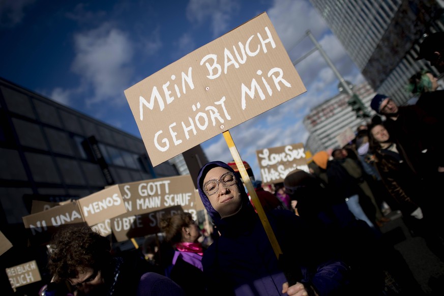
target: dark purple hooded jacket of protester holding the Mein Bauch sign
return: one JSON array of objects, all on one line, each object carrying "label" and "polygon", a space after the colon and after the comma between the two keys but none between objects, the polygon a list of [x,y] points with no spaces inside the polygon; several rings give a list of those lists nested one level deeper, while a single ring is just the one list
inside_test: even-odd
[{"label": "dark purple hooded jacket of protester holding the Mein Bauch sign", "polygon": [[[287,275],[313,286],[319,295],[344,294],[348,267],[342,261],[327,261],[303,221],[287,210],[267,213],[279,246],[286,257],[280,263],[269,242],[259,216],[254,212],[247,193],[241,191],[242,208],[233,216],[221,219],[202,191],[206,173],[221,166],[233,172],[223,162],[204,165],[198,175],[200,198],[221,236],[203,254],[205,283],[210,295],[281,295]],[[238,179],[239,188],[243,188]],[[297,235],[297,237],[295,236]],[[297,238],[303,243],[295,243]],[[281,261],[282,262],[282,261]]]}]

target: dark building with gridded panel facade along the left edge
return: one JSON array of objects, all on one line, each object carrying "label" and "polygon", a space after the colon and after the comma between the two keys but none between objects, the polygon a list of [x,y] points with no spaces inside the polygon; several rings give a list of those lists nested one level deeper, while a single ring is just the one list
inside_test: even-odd
[{"label": "dark building with gridded panel facade along the left edge", "polygon": [[182,156],[153,167],[140,138],[0,78],[2,229],[22,225],[33,199],[186,173]]}]

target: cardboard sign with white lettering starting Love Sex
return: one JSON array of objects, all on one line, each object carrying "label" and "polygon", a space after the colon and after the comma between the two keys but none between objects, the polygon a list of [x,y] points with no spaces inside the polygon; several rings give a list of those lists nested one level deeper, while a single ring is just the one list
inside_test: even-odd
[{"label": "cardboard sign with white lettering starting Love Sex", "polygon": [[256,150],[256,157],[264,185],[284,182],[295,169],[309,172],[302,143]]}]

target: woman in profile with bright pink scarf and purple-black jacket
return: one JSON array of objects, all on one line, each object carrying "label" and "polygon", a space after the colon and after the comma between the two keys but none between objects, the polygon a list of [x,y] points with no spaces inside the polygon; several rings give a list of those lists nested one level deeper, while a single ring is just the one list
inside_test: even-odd
[{"label": "woman in profile with bright pink scarf and purple-black jacket", "polygon": [[179,284],[187,295],[203,295],[203,249],[198,241],[201,236],[199,226],[190,213],[182,212],[162,218],[159,227],[165,233],[165,241],[174,248],[166,275]]}]

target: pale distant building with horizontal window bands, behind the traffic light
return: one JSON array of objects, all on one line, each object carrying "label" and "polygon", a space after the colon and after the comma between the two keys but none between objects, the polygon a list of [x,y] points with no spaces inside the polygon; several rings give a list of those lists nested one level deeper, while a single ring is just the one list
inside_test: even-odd
[{"label": "pale distant building with horizontal window bands, behind the traffic light", "polygon": [[[373,116],[376,114],[370,108],[370,102],[376,94],[368,82],[353,86],[353,93],[359,96]],[[356,128],[366,124],[369,119],[358,119],[356,113],[347,104],[348,94],[338,94],[310,110],[304,117],[304,126],[310,136],[305,143],[305,150],[315,154],[321,150],[334,149],[343,146],[338,137],[346,130],[356,131]]]}]

